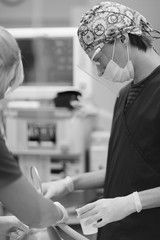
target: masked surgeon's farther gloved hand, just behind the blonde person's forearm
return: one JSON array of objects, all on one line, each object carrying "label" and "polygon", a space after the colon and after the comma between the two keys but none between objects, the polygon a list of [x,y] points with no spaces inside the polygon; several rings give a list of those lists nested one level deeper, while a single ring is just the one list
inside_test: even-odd
[{"label": "masked surgeon's farther gloved hand, just behind the blonde person's forearm", "polygon": [[46,198],[62,197],[74,190],[74,185],[70,177],[52,182],[42,183],[43,195]]}]

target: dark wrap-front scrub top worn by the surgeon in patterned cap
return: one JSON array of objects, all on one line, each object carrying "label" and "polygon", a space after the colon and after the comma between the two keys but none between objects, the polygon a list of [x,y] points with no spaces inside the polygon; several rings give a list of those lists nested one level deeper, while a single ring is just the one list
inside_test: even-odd
[{"label": "dark wrap-front scrub top worn by the surgeon in patterned cap", "polygon": [[[125,109],[131,83],[117,98],[104,198],[160,186],[160,66]],[[160,208],[142,210],[99,229],[99,240],[159,240]]]}]

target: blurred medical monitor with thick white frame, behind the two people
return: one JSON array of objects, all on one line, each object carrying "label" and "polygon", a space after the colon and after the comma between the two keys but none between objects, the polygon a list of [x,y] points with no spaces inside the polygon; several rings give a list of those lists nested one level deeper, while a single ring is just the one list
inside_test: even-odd
[{"label": "blurred medical monitor with thick white frame, behind the two people", "polygon": [[24,81],[12,93],[12,98],[48,99],[59,91],[84,88],[76,73],[77,59],[81,56],[80,48],[77,50],[76,28],[13,28],[8,31],[18,42],[24,66]]}]

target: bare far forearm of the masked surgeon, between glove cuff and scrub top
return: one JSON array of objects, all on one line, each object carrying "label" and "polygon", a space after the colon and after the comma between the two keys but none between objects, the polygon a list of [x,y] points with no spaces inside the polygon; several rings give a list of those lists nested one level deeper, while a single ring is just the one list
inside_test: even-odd
[{"label": "bare far forearm of the masked surgeon, between glove cuff and scrub top", "polygon": [[105,170],[88,172],[72,177],[75,190],[87,190],[104,187]]}]

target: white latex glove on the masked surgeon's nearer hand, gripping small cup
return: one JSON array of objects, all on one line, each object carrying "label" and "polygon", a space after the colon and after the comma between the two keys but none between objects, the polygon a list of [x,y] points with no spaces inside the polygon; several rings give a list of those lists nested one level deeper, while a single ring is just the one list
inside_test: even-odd
[{"label": "white latex glove on the masked surgeon's nearer hand, gripping small cup", "polygon": [[85,221],[86,225],[94,223],[93,226],[100,228],[136,212],[136,206],[133,194],[130,194],[125,197],[103,198],[97,200],[96,202],[89,203],[77,209],[77,212],[79,219],[89,217]]}]

